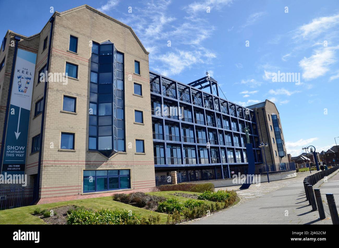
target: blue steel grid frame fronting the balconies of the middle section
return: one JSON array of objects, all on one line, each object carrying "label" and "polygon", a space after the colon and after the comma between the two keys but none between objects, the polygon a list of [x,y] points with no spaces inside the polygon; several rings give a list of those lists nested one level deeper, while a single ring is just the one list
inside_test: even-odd
[{"label": "blue steel grid frame fronting the balconies of the middle section", "polygon": [[[151,86],[151,99],[157,98],[158,100],[161,101],[162,106],[164,105],[164,101],[166,102],[167,100],[175,102],[176,107],[178,107],[178,110],[180,108],[180,105],[186,105],[186,106],[191,105],[190,110],[192,112],[192,120],[193,120],[193,122],[182,121],[180,118],[178,118],[178,120],[176,120],[176,119],[173,119],[173,118],[168,118],[166,116],[163,116],[162,114],[161,114],[161,116],[155,115],[155,113],[152,111],[152,122],[155,121],[155,120],[160,121],[162,123],[162,133],[163,133],[163,139],[153,139],[153,142],[154,143],[160,143],[164,146],[164,164],[156,164],[156,161],[155,161],[155,168],[156,169],[157,168],[159,168],[159,169],[160,168],[171,169],[173,167],[182,167],[183,169],[184,169],[184,167],[188,167],[187,169],[193,169],[193,167],[198,167],[197,169],[200,169],[200,168],[202,168],[202,166],[204,166],[204,167],[206,167],[206,166],[210,167],[211,166],[211,169],[214,168],[214,170],[216,172],[216,166],[221,166],[222,178],[224,178],[224,169],[223,168],[224,168],[224,166],[226,166],[227,169],[228,169],[228,177],[230,178],[231,177],[231,175],[230,175],[230,165],[231,166],[232,165],[237,165],[237,166],[239,166],[239,165],[247,166],[248,165],[248,163],[243,158],[243,153],[244,153],[244,151],[246,151],[246,148],[245,148],[246,144],[243,144],[242,136],[244,136],[245,133],[242,132],[241,130],[239,130],[239,121],[242,121],[243,123],[245,123],[245,125],[248,125],[250,127],[250,130],[251,130],[250,139],[251,139],[251,143],[253,144],[253,147],[254,147],[253,150],[255,151],[255,154],[254,154],[255,164],[262,164],[261,149],[258,148],[257,144],[256,144],[256,143],[258,143],[257,140],[259,140],[259,135],[257,133],[257,128],[256,128],[257,123],[256,123],[256,120],[255,120],[254,111],[252,109],[248,109],[249,116],[253,117],[253,120],[249,121],[250,118],[245,117],[245,109],[246,109],[245,107],[242,107],[238,104],[230,102],[226,99],[220,98],[219,92],[218,92],[218,87],[217,87],[217,81],[215,81],[213,78],[211,78],[209,81],[206,80],[206,78],[201,78],[201,79],[194,81],[190,84],[184,84],[184,83],[178,82],[174,79],[165,77],[161,74],[155,73],[153,71],[150,71],[149,74],[150,74],[150,86]],[[164,79],[164,81],[163,81],[163,79]],[[158,91],[158,92],[152,91],[152,83],[155,80],[159,81],[159,89],[155,90],[155,91]],[[173,97],[173,95],[172,96],[166,96],[164,94],[165,92],[163,92],[163,85],[168,83],[168,81],[171,82],[171,84],[173,84],[175,86],[176,96],[174,96],[174,97]],[[194,87],[194,86],[198,86],[198,85],[200,86],[200,88]],[[178,99],[179,98],[179,91],[178,91],[179,87],[180,87],[180,89],[182,89],[182,87],[184,87],[185,89],[188,89],[189,96],[190,96],[189,101],[187,99],[185,99],[185,101]],[[211,92],[214,92],[214,94],[216,94],[216,95],[205,92],[205,91],[202,90],[202,89],[205,89],[205,88],[208,88],[208,87],[210,88]],[[196,104],[193,103],[192,91],[198,92],[200,94],[200,97],[202,97],[202,99],[201,99],[201,102],[202,102],[201,105],[202,106],[196,105]],[[213,109],[205,107],[205,100],[207,100],[205,97],[212,99]],[[227,113],[221,112],[220,101],[227,103]],[[217,104],[217,106],[216,106],[216,104]],[[234,116],[230,115],[230,104],[234,106],[234,110],[235,110]],[[153,106],[153,99],[152,99],[152,106]],[[195,119],[194,109],[199,109],[199,111],[203,112],[204,121],[205,121],[204,124],[198,124],[198,123],[194,122],[194,119]],[[241,110],[238,111],[239,109],[241,109]],[[207,124],[207,122],[206,122],[207,121],[206,120],[206,111],[208,111],[208,112],[212,113],[212,115],[214,115],[215,126],[205,125],[205,124]],[[231,122],[236,121],[239,131],[232,130],[232,128],[230,128],[230,129],[227,129],[226,127],[224,128],[222,120],[221,120],[221,123],[217,123],[217,114],[221,118],[227,117],[227,119],[230,120]],[[179,125],[180,141],[166,140],[165,121],[166,121],[166,123],[172,122],[172,123],[176,123],[176,125]],[[230,124],[232,126],[232,123],[230,123]],[[181,133],[181,125],[193,126],[194,140],[195,141],[197,141],[197,139],[196,139],[197,138],[196,137],[196,127],[205,129],[206,139],[207,139],[208,142],[209,142],[209,140],[208,140],[209,139],[208,130],[214,130],[217,134],[217,144],[211,144],[211,142],[210,142],[210,147],[211,148],[217,148],[219,150],[219,161],[218,161],[219,163],[211,163],[211,153],[210,153],[210,149],[208,149],[208,162],[209,162],[208,164],[184,164],[184,156],[183,156],[184,155],[183,154],[183,150],[184,150],[183,146],[184,145],[189,145],[189,146],[195,147],[195,151],[196,151],[195,152],[196,153],[195,159],[196,159],[196,161],[199,161],[198,160],[198,158],[199,158],[198,157],[198,147],[202,146],[202,145],[206,146],[207,144],[183,142],[183,137],[182,137],[182,133]],[[219,126],[221,126],[221,127],[219,127]],[[225,137],[225,131],[231,133],[232,134],[232,141],[234,140],[234,135],[237,134],[238,137],[239,137],[239,140],[241,142],[240,143],[241,146],[233,146],[233,144],[232,144],[232,146],[225,145],[225,142],[224,142],[224,145],[220,145],[219,131],[224,133],[224,137]],[[159,137],[157,137],[157,138],[159,138]],[[257,138],[257,139],[255,139],[255,138]],[[176,144],[178,146],[181,146],[181,161],[182,161],[181,164],[168,164],[167,163],[167,156],[166,156],[167,144]],[[221,156],[221,149],[224,149],[224,151],[225,151],[225,162],[223,162],[223,159],[222,159],[222,156]],[[236,149],[241,150],[241,162],[234,162],[234,161],[236,161],[236,153],[235,153]],[[233,156],[234,156],[233,162],[228,161],[227,150],[233,151]],[[156,155],[155,155],[155,157],[156,157]]]}]

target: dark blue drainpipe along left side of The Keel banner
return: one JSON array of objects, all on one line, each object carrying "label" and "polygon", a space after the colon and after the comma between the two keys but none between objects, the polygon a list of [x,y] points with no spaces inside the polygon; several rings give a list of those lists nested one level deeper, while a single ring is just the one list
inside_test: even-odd
[{"label": "dark blue drainpipe along left side of The Keel banner", "polygon": [[7,96],[7,104],[6,104],[6,113],[5,113],[5,123],[3,125],[3,132],[2,132],[2,145],[1,145],[1,153],[0,153],[0,171],[2,172],[2,163],[3,163],[3,153],[5,147],[5,138],[6,138],[6,131],[7,131],[7,120],[8,120],[8,112],[9,112],[9,103],[11,102],[11,95],[12,95],[12,86],[13,86],[13,78],[14,78],[14,69],[15,63],[17,61],[17,53],[18,53],[18,42],[20,41],[19,36],[15,36],[15,48],[14,48],[14,56],[13,56],[13,64],[12,64],[12,72],[11,72],[11,80],[9,81],[9,89],[8,89],[8,96]]}]

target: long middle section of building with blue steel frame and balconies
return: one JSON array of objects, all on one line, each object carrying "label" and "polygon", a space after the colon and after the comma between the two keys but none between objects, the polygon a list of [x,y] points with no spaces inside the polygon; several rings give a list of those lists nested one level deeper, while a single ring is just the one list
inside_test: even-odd
[{"label": "long middle section of building with blue steel frame and balconies", "polygon": [[224,179],[247,169],[245,127],[262,163],[254,111],[219,96],[217,81],[189,84],[150,72],[157,178],[177,182]]}]

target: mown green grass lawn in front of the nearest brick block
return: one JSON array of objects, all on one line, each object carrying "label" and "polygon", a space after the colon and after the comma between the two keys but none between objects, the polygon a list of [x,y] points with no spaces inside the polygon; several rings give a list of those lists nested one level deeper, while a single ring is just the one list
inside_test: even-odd
[{"label": "mown green grass lawn in front of the nearest brick block", "polygon": [[[85,208],[92,208],[93,210],[98,209],[126,209],[132,210],[133,212],[140,214],[140,216],[145,217],[146,219],[150,214],[157,215],[157,212],[153,212],[147,209],[142,209],[138,207],[131,206],[129,204],[116,202],[112,200],[112,197],[98,197],[66,202],[57,202],[57,203],[48,203],[41,205],[33,205],[27,207],[6,209],[0,211],[0,224],[46,224],[42,219],[37,216],[32,215],[33,210],[37,207],[41,209],[55,209],[61,206],[66,205],[78,205],[84,206]],[[165,224],[167,220],[166,213],[159,213],[161,216],[161,224]]]}]

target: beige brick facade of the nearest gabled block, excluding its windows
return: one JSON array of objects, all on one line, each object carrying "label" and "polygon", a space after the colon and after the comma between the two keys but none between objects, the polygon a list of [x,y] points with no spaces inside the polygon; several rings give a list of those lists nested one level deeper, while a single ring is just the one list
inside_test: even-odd
[{"label": "beige brick facade of the nearest gabled block, excluding its windows", "polygon": [[[151,97],[149,91],[148,52],[131,27],[83,5],[62,13],[54,13],[54,27],[51,43],[51,57],[48,73],[64,73],[66,62],[78,65],[78,78],[47,84],[45,121],[42,146],[40,202],[71,200],[111,195],[108,193],[83,193],[83,170],[129,169],[130,191],[147,191],[155,186],[153,138],[151,119]],[[43,41],[48,36],[51,24],[48,22],[41,33],[34,38],[22,37],[19,47],[37,53],[31,120],[27,146],[26,174],[38,171],[38,154],[29,154],[32,138],[40,133],[41,114],[34,117],[35,103],[43,98],[44,83],[38,83],[38,72],[47,62],[48,45]],[[78,38],[78,53],[68,51],[70,35]],[[9,32],[13,39],[14,34]],[[124,119],[126,152],[118,152],[106,158],[99,152],[88,151],[88,106],[91,46],[110,40],[120,53],[124,54]],[[8,41],[7,41],[8,43]],[[26,47],[26,48],[25,48]],[[0,72],[0,118],[4,119],[8,85],[14,48],[0,53],[0,61],[6,54],[6,68]],[[140,61],[140,76],[134,74],[134,60]],[[9,74],[9,75],[8,75]],[[133,82],[142,85],[143,96],[133,95]],[[63,96],[76,97],[76,113],[62,111]],[[144,125],[134,123],[134,109],[143,111]],[[0,122],[2,137],[3,123]],[[60,149],[61,132],[75,133],[74,151]],[[145,153],[136,153],[135,139],[144,140]],[[32,183],[32,182],[31,182]]]}]

